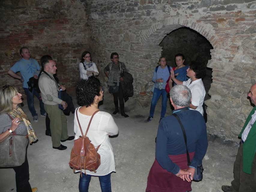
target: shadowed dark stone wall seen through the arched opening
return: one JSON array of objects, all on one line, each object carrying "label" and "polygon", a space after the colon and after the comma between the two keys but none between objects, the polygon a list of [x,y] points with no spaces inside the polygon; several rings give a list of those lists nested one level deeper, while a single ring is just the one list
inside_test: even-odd
[{"label": "shadowed dark stone wall seen through the arched opening", "polygon": [[182,53],[185,56],[185,64],[191,61],[199,61],[207,64],[211,59],[210,49],[213,49],[209,41],[202,35],[189,28],[179,28],[166,35],[159,44],[162,47],[162,56],[165,56],[167,64],[176,67],[175,55]]}]

